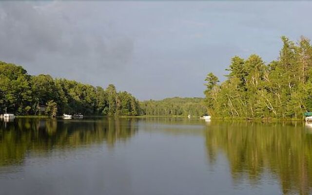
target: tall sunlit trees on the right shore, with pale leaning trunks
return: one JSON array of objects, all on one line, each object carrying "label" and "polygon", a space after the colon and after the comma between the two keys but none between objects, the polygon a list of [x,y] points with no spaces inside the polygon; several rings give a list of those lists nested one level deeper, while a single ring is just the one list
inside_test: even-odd
[{"label": "tall sunlit trees on the right shore, with pale leaning trunks", "polygon": [[204,92],[213,117],[303,118],[312,111],[312,46],[304,37],[281,38],[279,57],[266,64],[259,56],[232,58],[226,80],[209,73]]}]

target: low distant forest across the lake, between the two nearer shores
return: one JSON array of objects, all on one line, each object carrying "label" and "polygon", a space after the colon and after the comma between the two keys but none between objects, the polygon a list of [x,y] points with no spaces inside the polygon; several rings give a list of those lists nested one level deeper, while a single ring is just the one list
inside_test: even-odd
[{"label": "low distant forest across the lake, between the two nearer shores", "polygon": [[202,116],[204,98],[165,98],[140,102],[141,114],[149,116]]}]

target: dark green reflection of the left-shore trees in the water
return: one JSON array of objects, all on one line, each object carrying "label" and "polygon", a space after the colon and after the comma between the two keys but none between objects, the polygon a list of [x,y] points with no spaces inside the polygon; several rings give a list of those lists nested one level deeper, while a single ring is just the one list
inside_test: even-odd
[{"label": "dark green reflection of the left-shore trees in the water", "polygon": [[0,121],[0,166],[23,162],[28,151],[47,153],[54,148],[77,148],[105,142],[113,147],[137,131],[136,118],[57,120],[20,118]]}]

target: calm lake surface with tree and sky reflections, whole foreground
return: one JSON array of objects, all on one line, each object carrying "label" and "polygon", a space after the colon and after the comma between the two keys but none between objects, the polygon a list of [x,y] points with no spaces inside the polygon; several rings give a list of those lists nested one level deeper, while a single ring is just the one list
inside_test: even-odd
[{"label": "calm lake surface with tree and sky reflections, whole foreground", "polygon": [[312,193],[312,126],[170,118],[0,121],[1,195]]}]

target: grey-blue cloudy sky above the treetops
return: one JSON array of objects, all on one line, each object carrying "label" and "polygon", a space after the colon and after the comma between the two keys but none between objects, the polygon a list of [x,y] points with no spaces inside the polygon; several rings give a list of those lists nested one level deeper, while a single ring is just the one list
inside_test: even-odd
[{"label": "grey-blue cloudy sky above the treetops", "polygon": [[0,60],[30,75],[114,84],[140,100],[203,97],[231,58],[312,39],[312,1],[0,1]]}]

